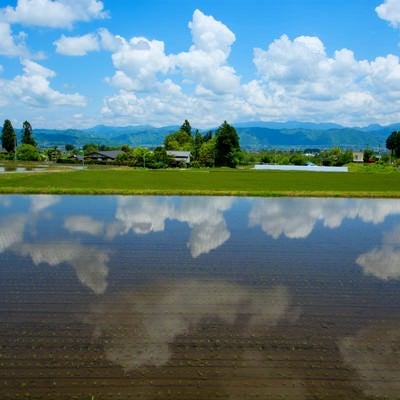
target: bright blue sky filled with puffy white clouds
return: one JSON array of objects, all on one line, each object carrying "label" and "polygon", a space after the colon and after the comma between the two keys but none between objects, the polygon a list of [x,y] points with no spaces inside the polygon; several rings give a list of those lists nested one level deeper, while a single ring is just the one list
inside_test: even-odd
[{"label": "bright blue sky filled with puffy white clouds", "polygon": [[0,0],[15,126],[400,121],[400,0]]}]

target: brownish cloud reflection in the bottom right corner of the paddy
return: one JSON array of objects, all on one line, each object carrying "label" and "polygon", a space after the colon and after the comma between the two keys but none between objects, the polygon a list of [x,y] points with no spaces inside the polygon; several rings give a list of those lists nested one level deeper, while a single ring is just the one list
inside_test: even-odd
[{"label": "brownish cloud reflection in the bottom right corner of the paddy", "polygon": [[347,365],[354,368],[368,396],[398,398],[400,393],[400,325],[381,323],[339,342]]}]

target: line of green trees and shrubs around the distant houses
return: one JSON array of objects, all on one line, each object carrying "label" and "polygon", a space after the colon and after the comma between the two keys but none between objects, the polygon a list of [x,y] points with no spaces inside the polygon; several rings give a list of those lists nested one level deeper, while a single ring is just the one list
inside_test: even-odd
[{"label": "line of green trees and shrubs around the distant houses", "polygon": [[[82,155],[82,151],[71,144],[65,145],[65,152],[57,147],[40,151],[33,136],[33,129],[28,121],[22,124],[21,143],[17,142],[17,135],[10,120],[4,121],[2,147],[8,152],[8,158],[36,161],[52,160],[73,162],[74,155]],[[372,149],[364,149],[364,162],[381,163],[395,162],[400,159],[400,131],[392,132],[386,139],[386,148],[389,154],[377,157]],[[189,151],[191,153],[191,167],[231,167],[238,164],[249,165],[254,163],[294,164],[339,166],[353,161],[351,150],[342,150],[338,147],[308,154],[307,151],[260,150],[246,152],[240,147],[240,139],[236,129],[224,121],[215,131],[200,132],[193,129],[190,122],[185,120],[180,128],[164,138],[163,145],[149,150],[145,147],[131,148],[128,145],[109,147],[87,143],[83,146],[83,155],[101,150],[122,150],[115,163],[133,167],[166,168],[176,166],[173,158],[168,156],[168,150]],[[76,157],[75,157],[76,159]],[[79,157],[78,157],[79,159]],[[187,166],[182,164],[182,166]]]}]

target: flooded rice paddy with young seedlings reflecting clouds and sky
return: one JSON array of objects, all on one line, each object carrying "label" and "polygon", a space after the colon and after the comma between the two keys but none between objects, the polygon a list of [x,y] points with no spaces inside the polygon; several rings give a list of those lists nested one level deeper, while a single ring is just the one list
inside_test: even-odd
[{"label": "flooded rice paddy with young seedlings reflecting clouds and sky", "polygon": [[400,201],[1,196],[0,398],[399,399]]}]

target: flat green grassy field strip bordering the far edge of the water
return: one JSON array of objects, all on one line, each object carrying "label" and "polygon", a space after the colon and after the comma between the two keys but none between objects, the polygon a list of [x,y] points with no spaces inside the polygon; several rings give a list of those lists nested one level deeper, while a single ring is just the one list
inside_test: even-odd
[{"label": "flat green grassy field strip bordering the far edge of the water", "polygon": [[0,192],[400,198],[400,174],[88,169],[2,174]]}]

